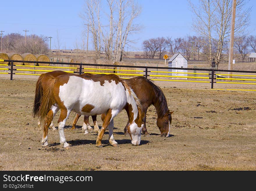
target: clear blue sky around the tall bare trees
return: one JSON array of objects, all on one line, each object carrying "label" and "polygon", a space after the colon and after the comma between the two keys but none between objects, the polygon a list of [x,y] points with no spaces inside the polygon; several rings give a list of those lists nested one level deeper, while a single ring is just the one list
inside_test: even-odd
[{"label": "clear blue sky around the tall bare trees", "polygon": [[[137,0],[142,7],[142,13],[136,19],[143,29],[131,39],[136,44],[129,51],[140,51],[144,40],[157,37],[185,37],[196,35],[193,31],[191,11],[187,0]],[[192,0],[197,3],[197,0]],[[73,1],[1,1],[0,30],[8,33],[20,33],[28,30],[27,35],[36,34],[51,36],[51,49],[57,47],[57,31],[62,49],[75,49],[81,43],[83,21],[79,14],[83,10],[83,0]],[[256,1],[251,0],[252,6],[251,35],[256,35]],[[89,49],[93,49],[90,43]]]}]

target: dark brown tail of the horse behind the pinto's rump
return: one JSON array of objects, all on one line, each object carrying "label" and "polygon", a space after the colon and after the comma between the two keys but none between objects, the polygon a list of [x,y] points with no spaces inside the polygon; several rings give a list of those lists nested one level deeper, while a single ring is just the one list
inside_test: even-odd
[{"label": "dark brown tail of the horse behind the pinto's rump", "polygon": [[43,78],[45,77],[45,75],[46,75],[46,73],[40,75],[36,82],[35,99],[34,99],[34,106],[33,106],[33,110],[32,110],[33,117],[38,116],[38,112],[39,112],[39,108],[40,108],[42,96],[43,96],[42,81],[43,81]]}]

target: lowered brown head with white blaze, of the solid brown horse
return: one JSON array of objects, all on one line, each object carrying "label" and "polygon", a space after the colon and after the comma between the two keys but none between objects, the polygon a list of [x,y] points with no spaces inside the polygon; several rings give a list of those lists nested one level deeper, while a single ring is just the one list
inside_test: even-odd
[{"label": "lowered brown head with white blaze, of the solid brown horse", "polygon": [[168,110],[163,117],[159,117],[157,119],[157,126],[159,127],[159,130],[161,132],[161,137],[169,137],[173,112],[174,111],[170,112],[170,110]]}]

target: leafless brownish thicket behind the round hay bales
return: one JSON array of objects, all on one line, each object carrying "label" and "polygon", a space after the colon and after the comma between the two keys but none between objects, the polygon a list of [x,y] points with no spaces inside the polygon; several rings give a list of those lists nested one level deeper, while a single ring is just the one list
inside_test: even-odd
[{"label": "leafless brownish thicket behind the round hay bales", "polygon": [[19,33],[10,33],[2,38],[2,52],[46,54],[49,51],[47,41],[48,38],[42,35],[28,35],[25,40]]}]

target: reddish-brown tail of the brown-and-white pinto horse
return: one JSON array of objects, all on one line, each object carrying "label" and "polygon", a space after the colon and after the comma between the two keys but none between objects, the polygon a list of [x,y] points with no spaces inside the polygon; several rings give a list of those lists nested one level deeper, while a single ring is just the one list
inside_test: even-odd
[{"label": "reddish-brown tail of the brown-and-white pinto horse", "polygon": [[45,124],[45,122],[44,122],[45,121],[45,116],[47,115],[47,113],[51,109],[51,106],[55,103],[53,88],[54,88],[56,78],[54,78],[54,76],[52,76],[52,75],[49,75],[49,76],[47,76],[46,80],[48,81],[47,87],[44,91],[44,94],[40,98],[41,103],[40,103],[40,108],[39,108],[39,111],[38,111],[38,117],[40,118],[41,128],[43,128],[43,126]]}]

